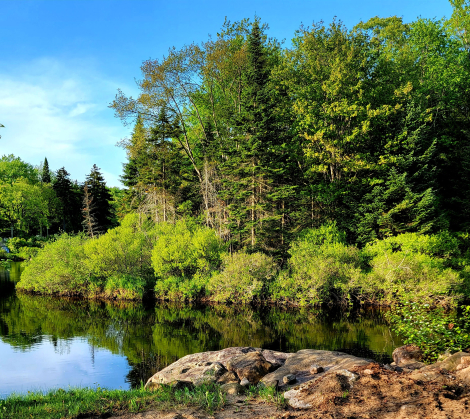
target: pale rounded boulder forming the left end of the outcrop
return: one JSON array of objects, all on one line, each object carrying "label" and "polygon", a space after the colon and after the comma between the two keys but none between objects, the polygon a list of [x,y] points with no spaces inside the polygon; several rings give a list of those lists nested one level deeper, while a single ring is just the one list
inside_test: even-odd
[{"label": "pale rounded boulder forming the left end of the outcrop", "polygon": [[[178,361],[154,374],[147,381],[168,384],[177,380],[200,383],[203,381],[217,381],[225,372],[213,364],[217,363],[227,369],[227,363],[232,358],[252,352],[259,352],[265,359],[272,361],[273,368],[284,364],[291,354],[271,350],[257,350],[252,347],[226,348],[220,351],[201,352],[186,355]],[[211,374],[214,374],[211,376]],[[220,375],[219,375],[220,374]]]}]

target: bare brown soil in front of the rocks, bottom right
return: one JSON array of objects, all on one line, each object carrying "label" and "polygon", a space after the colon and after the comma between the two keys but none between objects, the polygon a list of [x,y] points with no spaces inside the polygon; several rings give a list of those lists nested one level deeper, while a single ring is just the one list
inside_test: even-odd
[{"label": "bare brown soil in front of the rocks, bottom right", "polygon": [[[148,411],[115,419],[425,419],[470,418],[470,386],[442,372],[436,380],[414,380],[408,373],[388,371],[378,364],[357,367],[360,378],[352,388],[333,381],[315,382],[311,391],[321,393],[306,410],[285,408],[262,400],[232,397],[213,416],[201,410]],[[326,377],[326,376],[325,376]]]}]

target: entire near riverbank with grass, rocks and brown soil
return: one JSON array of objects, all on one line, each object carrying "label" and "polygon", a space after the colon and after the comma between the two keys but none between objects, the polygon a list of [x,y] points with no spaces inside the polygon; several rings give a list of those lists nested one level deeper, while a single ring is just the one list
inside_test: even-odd
[{"label": "entire near riverbank with grass, rocks and brown soil", "polygon": [[0,419],[468,417],[470,354],[430,365],[420,356],[402,347],[383,365],[335,351],[227,348],[183,357],[137,390],[11,396],[0,400]]}]

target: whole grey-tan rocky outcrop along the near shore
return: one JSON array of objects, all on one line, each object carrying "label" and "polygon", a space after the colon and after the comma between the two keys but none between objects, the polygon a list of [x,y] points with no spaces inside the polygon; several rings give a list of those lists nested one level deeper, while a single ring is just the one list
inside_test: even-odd
[{"label": "whole grey-tan rocky outcrop along the near shore", "polygon": [[304,349],[288,354],[252,347],[227,348],[187,355],[151,377],[146,388],[163,384],[184,388],[214,382],[223,392],[238,395],[260,382],[283,391],[293,408],[317,409],[338,403],[352,391],[362,391],[357,386],[372,389],[378,381],[383,381],[384,389],[388,382],[393,383],[399,393],[400,377],[406,377],[407,385],[416,388],[447,388],[449,380],[456,378],[461,385],[470,386],[470,354],[466,352],[427,366],[420,361],[421,352],[412,345],[397,348],[393,356],[392,366],[383,366],[337,351]]}]

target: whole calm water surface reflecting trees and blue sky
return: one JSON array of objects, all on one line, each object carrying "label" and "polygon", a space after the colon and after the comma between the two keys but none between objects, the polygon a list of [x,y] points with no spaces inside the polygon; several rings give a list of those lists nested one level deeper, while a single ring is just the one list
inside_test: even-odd
[{"label": "whole calm water surface reflecting trees and blue sky", "polygon": [[401,341],[380,313],[72,301],[17,295],[0,267],[0,397],[28,390],[127,389],[178,358],[230,346],[315,348],[390,359]]}]

